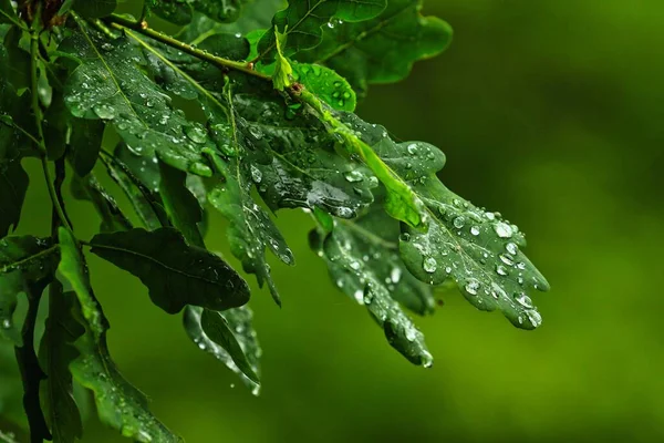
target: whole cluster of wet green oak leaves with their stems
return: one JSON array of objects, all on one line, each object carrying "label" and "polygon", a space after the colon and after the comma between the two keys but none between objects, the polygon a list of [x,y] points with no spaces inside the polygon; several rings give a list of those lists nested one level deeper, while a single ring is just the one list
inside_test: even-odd
[{"label": "whole cluster of wet green oak leaves with their stems", "polygon": [[[116,7],[0,0],[0,336],[15,347],[32,441],[81,437],[75,387],[124,436],[179,441],[111,359],[86,254],[183,312],[191,340],[258,392],[249,289],[207,250],[208,210],[228,219],[232,254],[277,302],[266,251],[294,259],[270,212],[309,212],[311,247],[334,284],[415,364],[433,358],[404,308],[430,313],[445,281],[517,327],[540,324],[528,292],[548,284],[518,228],[447,189],[438,148],[397,143],[353,113],[370,84],[404,79],[449,43],[450,28],[423,17],[422,0],[146,0],[138,19]],[[155,31],[154,16],[181,30]],[[113,150],[104,134],[120,140]],[[10,235],[30,183],[25,157],[42,162],[49,237]],[[75,235],[63,194],[96,209],[97,235]]]}]

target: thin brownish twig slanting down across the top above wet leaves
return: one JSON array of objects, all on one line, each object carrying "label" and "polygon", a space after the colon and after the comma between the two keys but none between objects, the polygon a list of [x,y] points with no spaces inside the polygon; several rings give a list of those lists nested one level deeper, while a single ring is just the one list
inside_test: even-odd
[{"label": "thin brownish twig slanting down across the top above wet leaves", "polygon": [[113,23],[113,25],[115,25],[117,29],[123,29],[123,28],[132,29],[143,35],[149,37],[153,40],[156,40],[156,41],[167,44],[172,48],[175,48],[183,52],[186,52],[189,55],[194,55],[197,59],[200,59],[210,64],[214,64],[217,68],[242,72],[245,74],[252,75],[252,76],[256,76],[256,78],[262,79],[262,80],[268,80],[268,81],[272,80],[270,78],[270,75],[267,75],[261,72],[252,70],[248,63],[236,62],[234,60],[224,59],[221,56],[210,54],[207,51],[203,51],[200,49],[194,48],[193,45],[190,45],[188,43],[184,43],[177,39],[174,39],[170,35],[166,35],[162,32],[158,32],[151,28],[147,28],[147,23],[145,21],[137,22],[137,21],[133,21],[133,20],[127,20],[124,17],[121,17],[117,14],[113,14],[110,18],[107,18],[106,20],[108,20],[111,23]]}]

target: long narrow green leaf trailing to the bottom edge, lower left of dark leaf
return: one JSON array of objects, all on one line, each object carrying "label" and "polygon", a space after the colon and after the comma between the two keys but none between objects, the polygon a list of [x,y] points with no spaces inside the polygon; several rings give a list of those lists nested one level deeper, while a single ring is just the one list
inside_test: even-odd
[{"label": "long narrow green leaf trailing to the bottom edge, lower left of dark leaf", "polygon": [[106,344],[108,321],[92,292],[83,255],[72,235],[59,230],[62,259],[59,272],[72,286],[79,300],[74,317],[85,328],[75,341],[80,356],[71,362],[74,379],[94,393],[101,421],[123,436],[145,443],[181,442],[147,409],[147,399],[120,373]]}]

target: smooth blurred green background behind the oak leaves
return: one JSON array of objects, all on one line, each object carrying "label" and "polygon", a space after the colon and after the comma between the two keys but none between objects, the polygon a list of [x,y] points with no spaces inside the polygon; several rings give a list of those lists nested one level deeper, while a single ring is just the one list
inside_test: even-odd
[{"label": "smooth blurred green background behind the oak leaves", "polygon": [[[664,3],[428,0],[424,11],[454,27],[453,45],[371,89],[359,112],[439,146],[447,186],[528,234],[552,286],[536,298],[543,326],[517,330],[450,293],[417,319],[434,368],[412,367],[333,289],[309,218],[282,212],[298,265],[273,261],[281,310],[253,292],[261,396],[198,352],[137,279],[92,259],[118,367],[189,443],[664,441]],[[21,230],[44,230],[48,197],[30,197]],[[226,250],[218,218],[208,241]],[[84,442],[121,441],[89,422]]]}]

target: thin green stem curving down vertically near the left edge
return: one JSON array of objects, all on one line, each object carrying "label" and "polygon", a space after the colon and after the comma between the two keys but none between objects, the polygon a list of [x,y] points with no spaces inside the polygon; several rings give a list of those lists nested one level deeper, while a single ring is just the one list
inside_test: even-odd
[{"label": "thin green stem curving down vertically near the left edge", "polygon": [[37,76],[38,70],[38,61],[39,61],[39,32],[37,30],[31,31],[30,39],[30,80],[31,80],[31,97],[32,97],[32,113],[34,115],[34,123],[37,124],[37,146],[41,154],[41,164],[42,169],[44,172],[44,178],[46,179],[46,186],[49,188],[49,195],[51,196],[51,202],[53,203],[53,207],[55,208],[58,216],[62,220],[62,224],[69,229],[72,230],[72,227],[68,220],[66,215],[64,214],[64,209],[60,204],[60,198],[58,197],[58,190],[55,189],[53,176],[51,174],[51,169],[49,168],[49,159],[48,159],[48,151],[46,144],[44,142],[44,128],[42,126],[43,114],[41,110],[41,105],[39,103],[39,82]]}]

